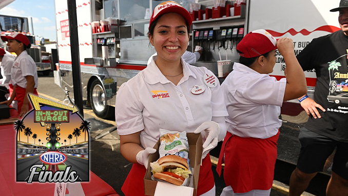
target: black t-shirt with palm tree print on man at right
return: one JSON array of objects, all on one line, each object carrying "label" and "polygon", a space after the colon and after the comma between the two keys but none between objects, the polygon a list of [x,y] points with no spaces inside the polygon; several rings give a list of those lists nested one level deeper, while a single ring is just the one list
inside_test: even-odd
[{"label": "black t-shirt with palm tree print on man at right", "polygon": [[314,100],[321,118],[308,119],[305,128],[326,137],[348,142],[348,36],[342,30],[313,39],[297,59],[303,70],[315,69]]}]

